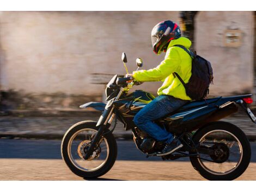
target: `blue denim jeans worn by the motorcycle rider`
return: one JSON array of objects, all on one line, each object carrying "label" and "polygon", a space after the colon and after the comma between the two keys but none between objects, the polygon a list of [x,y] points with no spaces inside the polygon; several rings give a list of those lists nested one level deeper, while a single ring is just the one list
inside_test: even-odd
[{"label": "blue denim jeans worn by the motorcycle rider", "polygon": [[159,95],[159,97],[156,97],[135,115],[133,122],[139,129],[147,132],[157,141],[165,141],[166,143],[170,143],[173,141],[172,133],[166,131],[164,128],[161,128],[153,121],[179,109],[187,102],[187,100],[174,98],[170,95]]}]

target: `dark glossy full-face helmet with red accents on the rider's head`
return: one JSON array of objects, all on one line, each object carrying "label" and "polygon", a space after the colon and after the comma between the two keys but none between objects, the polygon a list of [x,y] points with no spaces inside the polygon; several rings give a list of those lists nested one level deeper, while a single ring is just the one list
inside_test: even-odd
[{"label": "dark glossy full-face helmet with red accents on the rider's head", "polygon": [[151,31],[153,51],[157,55],[166,52],[169,42],[173,39],[179,39],[179,37],[181,37],[181,31],[178,24],[172,21],[157,23]]}]

